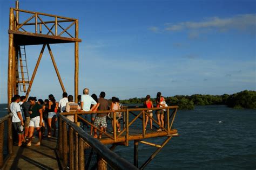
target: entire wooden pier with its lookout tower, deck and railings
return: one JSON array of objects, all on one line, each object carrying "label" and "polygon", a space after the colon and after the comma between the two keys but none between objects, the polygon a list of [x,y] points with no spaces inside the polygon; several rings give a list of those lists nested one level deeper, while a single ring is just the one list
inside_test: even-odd
[{"label": "entire wooden pier with its lookout tower, deck and railings", "polygon": [[[29,18],[23,18],[23,23],[19,23],[19,18],[30,15]],[[42,18],[49,18],[43,20]],[[70,23],[68,27],[63,27],[62,23]],[[32,29],[26,29],[26,26],[32,26]],[[73,27],[75,33],[68,32]],[[60,31],[59,31],[60,29]],[[53,57],[50,44],[57,43],[75,43],[75,102],[78,96],[78,19],[60,17],[41,12],[33,12],[19,9],[16,2],[16,8],[10,8],[9,22],[9,62],[8,62],[8,107],[11,98],[15,94],[23,91],[26,97],[29,96],[37,68],[42,59],[45,47],[48,48],[53,67],[56,70],[60,87],[65,92],[65,87],[58,72],[57,64]],[[64,36],[65,34],[65,36]],[[21,53],[21,46],[42,45],[35,69],[33,70],[31,80],[25,78],[24,65]],[[25,49],[25,47],[23,48]],[[26,62],[26,60],[25,60]],[[19,72],[19,67],[21,72]],[[28,86],[28,87],[27,87]],[[20,89],[19,89],[20,87]],[[21,88],[23,87],[23,88]],[[148,110],[166,109],[165,123],[161,125],[152,118],[155,129],[145,129],[146,116],[150,116]],[[116,114],[123,114],[123,128],[120,133],[117,132],[116,124],[113,126],[113,133],[102,131],[102,139],[96,139],[90,136],[86,131],[79,127],[80,123],[86,123],[93,128],[100,129],[87,121],[82,115],[95,114],[95,112],[69,112],[58,116],[58,137],[43,139],[41,146],[14,146],[12,136],[11,115],[0,118],[0,169],[144,169],[150,161],[156,157],[161,149],[171,140],[178,136],[177,130],[173,129],[173,122],[177,114],[178,107],[164,108],[125,108],[113,111],[97,111],[97,114],[113,112],[113,121],[116,122]],[[8,114],[8,115],[7,115]],[[75,121],[71,122],[66,118],[67,115],[73,115]],[[161,131],[156,131],[156,129]],[[165,138],[161,144],[154,144],[144,139],[147,138]],[[36,140],[36,139],[34,139]],[[124,160],[113,152],[116,146],[129,146],[130,142],[134,146],[133,164]],[[139,144],[145,144],[156,147],[143,165],[138,165]],[[107,148],[106,145],[112,145]],[[6,148],[6,150],[5,150]]]}]

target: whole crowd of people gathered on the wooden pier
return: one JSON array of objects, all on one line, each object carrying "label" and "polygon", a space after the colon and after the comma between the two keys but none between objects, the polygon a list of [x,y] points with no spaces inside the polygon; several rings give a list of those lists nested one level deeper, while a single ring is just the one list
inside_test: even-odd
[{"label": "whole crowd of people gathered on the wooden pier", "polygon": [[[95,125],[101,131],[97,134],[97,129],[93,126],[89,126],[86,123],[81,124],[81,128],[90,128],[90,134],[94,138],[102,138],[102,131],[106,131],[107,119],[111,120],[112,129],[114,124],[116,124],[117,132],[121,131],[121,120],[122,112],[116,110],[123,109],[123,104],[119,102],[117,97],[111,98],[111,104],[105,99],[105,92],[102,91],[99,94],[99,98],[96,94],[89,95],[89,89],[85,88],[83,90],[83,95],[78,96],[78,102],[73,102],[73,96],[64,92],[62,98],[59,102],[56,102],[55,97],[50,94],[48,99],[44,101],[42,99],[37,100],[36,97],[29,97],[26,100],[25,96],[14,95],[12,97],[12,103],[10,104],[10,111],[12,112],[12,124],[16,133],[18,134],[18,146],[26,145],[31,146],[31,141],[34,136],[34,131],[36,129],[38,133],[38,141],[36,146],[41,145],[42,138],[51,136],[56,136],[56,122],[58,112],[76,112],[76,111],[92,111],[90,114],[91,124]],[[154,108],[153,102],[151,101],[150,95],[147,95],[145,102],[143,103],[145,108]],[[164,97],[161,93],[157,93],[156,107],[166,107]],[[110,113],[97,113],[97,111],[111,111]],[[156,110],[157,120],[159,125],[164,126],[164,111]],[[113,114],[115,112],[115,114]],[[114,122],[114,115],[116,115],[116,121]],[[84,114],[84,119],[89,119],[88,114]],[[148,122],[150,122],[150,130],[152,128],[152,116],[153,111],[146,111],[145,119],[145,129]],[[66,116],[70,121],[74,122],[74,116]],[[161,126],[157,131],[161,131]],[[47,128],[47,134],[45,130]],[[52,134],[53,129],[53,134]],[[113,133],[113,131],[112,131]]]}]

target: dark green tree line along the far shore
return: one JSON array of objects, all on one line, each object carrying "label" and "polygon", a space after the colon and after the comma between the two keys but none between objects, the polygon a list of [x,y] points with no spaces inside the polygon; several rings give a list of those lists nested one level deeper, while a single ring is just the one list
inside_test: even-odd
[{"label": "dark green tree line along the far shore", "polygon": [[[156,104],[156,98],[151,98]],[[142,104],[145,98],[130,98],[129,100],[121,100],[123,104]],[[200,95],[195,94],[192,96],[176,95],[165,97],[168,105],[178,105],[179,109],[194,109],[195,105],[212,105],[212,104],[225,104],[228,107],[235,109],[256,109],[256,91],[244,90],[232,95]]]}]

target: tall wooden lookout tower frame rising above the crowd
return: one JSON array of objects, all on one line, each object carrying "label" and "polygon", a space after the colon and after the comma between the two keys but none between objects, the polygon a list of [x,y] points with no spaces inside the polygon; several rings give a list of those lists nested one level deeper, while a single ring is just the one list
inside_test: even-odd
[{"label": "tall wooden lookout tower frame rising above the crowd", "polygon": [[[23,23],[19,23],[19,15],[21,13],[26,13],[26,15],[31,15]],[[52,20],[44,20],[43,17],[53,18]],[[32,21],[32,22],[31,22]],[[62,23],[70,24],[68,27],[63,27]],[[51,25],[52,24],[52,25]],[[51,27],[50,27],[51,25]],[[26,31],[26,26],[34,26],[34,29]],[[62,32],[58,33],[58,28],[62,29]],[[69,33],[68,30],[75,30],[75,36],[72,36],[72,33]],[[35,78],[37,68],[41,61],[45,46],[48,47],[53,66],[56,70],[60,86],[62,87],[63,92],[65,88],[62,82],[62,79],[59,75],[55,59],[51,52],[50,44],[58,43],[75,43],[75,102],[77,102],[78,96],[78,42],[82,40],[78,38],[78,19],[60,17],[56,15],[50,15],[41,12],[33,12],[19,9],[19,3],[16,1],[16,8],[10,8],[10,18],[9,18],[9,60],[8,60],[8,104],[11,103],[11,98],[15,94],[19,93],[18,85],[19,83],[29,84],[26,91],[26,97],[28,97],[33,80]],[[65,34],[63,34],[65,33]],[[64,35],[67,35],[66,37]],[[22,76],[22,81],[19,81],[18,73],[18,62],[19,57],[18,53],[20,46],[25,45],[40,45],[42,44],[42,50],[39,54],[35,69],[30,81],[25,81]]]}]

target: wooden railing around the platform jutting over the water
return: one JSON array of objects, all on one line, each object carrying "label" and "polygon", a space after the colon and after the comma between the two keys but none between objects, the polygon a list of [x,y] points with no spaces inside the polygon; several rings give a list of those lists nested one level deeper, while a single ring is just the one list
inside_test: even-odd
[{"label": "wooden railing around the platform jutting over the water", "polygon": [[[134,124],[134,122],[138,122],[138,121],[142,121],[142,127],[139,128],[139,130],[141,130],[142,132],[142,137],[143,138],[150,138],[150,137],[157,137],[158,134],[151,134],[149,132],[146,131],[145,129],[145,116],[149,116],[150,115],[146,112],[147,110],[162,110],[162,109],[166,109],[166,115],[165,115],[165,120],[164,120],[164,126],[162,126],[161,124],[158,123],[158,121],[156,119],[154,119],[152,117],[152,122],[154,122],[154,127],[156,128],[160,128],[163,130],[163,132],[166,132],[166,134],[173,134],[176,133],[176,131],[173,131],[172,129],[172,125],[173,125],[173,121],[174,118],[176,116],[177,110],[178,110],[178,106],[170,106],[170,107],[163,107],[163,108],[132,108],[132,109],[123,109],[123,110],[115,110],[110,111],[110,110],[106,110],[106,111],[97,111],[97,112],[92,112],[92,111],[83,111],[83,112],[69,112],[69,113],[62,113],[62,115],[74,115],[74,119],[75,119],[75,123],[79,124],[79,121],[82,121],[86,124],[89,124],[91,126],[93,126],[93,128],[97,129],[98,131],[102,132],[103,134],[105,134],[105,136],[108,137],[108,139],[106,139],[104,141],[105,144],[110,144],[110,143],[118,143],[123,141],[123,136],[125,133],[125,145],[128,146],[129,145],[129,140],[131,137],[129,137],[129,127]],[[172,110],[172,112],[170,113],[170,110]],[[84,114],[108,114],[109,112],[113,112],[113,122],[116,122],[116,114],[118,114],[118,112],[122,112],[123,113],[123,130],[118,134],[116,132],[117,130],[117,126],[114,123],[113,126],[113,134],[105,132],[104,130],[100,130],[98,127],[96,127],[94,124],[92,124],[91,122],[87,121],[85,118],[83,118],[81,115]],[[138,114],[134,114],[134,112],[139,112]],[[134,118],[130,121],[129,119],[129,115],[134,116]],[[137,129],[138,130],[138,129]],[[138,130],[138,131],[139,131]],[[123,135],[123,136],[122,136]],[[162,135],[162,134],[160,134]],[[108,141],[107,141],[108,140]],[[131,139],[132,140],[132,139]]]}]

